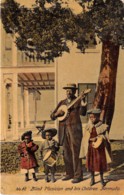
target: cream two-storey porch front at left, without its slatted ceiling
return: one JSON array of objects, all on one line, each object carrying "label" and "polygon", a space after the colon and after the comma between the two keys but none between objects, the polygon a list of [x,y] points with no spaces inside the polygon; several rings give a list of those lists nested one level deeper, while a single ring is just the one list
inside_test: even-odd
[{"label": "cream two-storey porch front at left, without its slatted ceiling", "polygon": [[[0,21],[1,22],[1,21]],[[24,53],[17,51],[16,45],[14,43],[14,37],[5,33],[3,26],[1,24],[1,62],[0,62],[0,140],[18,140],[19,133],[21,128],[25,131],[25,128],[29,127],[30,120],[34,121],[34,102],[33,98],[30,97],[30,101],[27,102],[27,93],[25,100],[21,99],[20,87],[18,86],[18,74],[19,73],[54,73],[54,62],[32,61],[30,59],[27,60]],[[6,82],[12,83],[12,91],[11,91],[11,101],[7,102],[7,89]],[[54,82],[54,78],[53,78]],[[16,92],[15,92],[16,87]],[[37,101],[37,117],[38,121],[48,119],[50,115],[50,111],[55,107],[54,101],[54,90],[49,90],[48,93],[42,91],[41,100]],[[4,95],[3,95],[4,94]],[[5,97],[4,97],[5,96]],[[16,104],[15,104],[15,100]],[[29,104],[28,104],[29,103]],[[10,113],[8,112],[8,105]],[[28,117],[27,110],[29,105],[29,115]],[[33,111],[32,111],[33,110]],[[17,114],[16,114],[17,112]],[[11,115],[11,127],[8,127],[9,122],[9,114]],[[26,121],[25,121],[26,119]],[[28,120],[29,119],[29,120]],[[50,118],[49,118],[50,119]],[[18,125],[19,124],[19,125]],[[15,126],[16,125],[16,128]],[[34,124],[35,125],[35,124]]]}]

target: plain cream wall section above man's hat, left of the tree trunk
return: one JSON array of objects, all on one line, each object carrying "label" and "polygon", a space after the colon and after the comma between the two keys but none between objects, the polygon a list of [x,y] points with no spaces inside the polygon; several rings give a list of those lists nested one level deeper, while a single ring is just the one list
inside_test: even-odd
[{"label": "plain cream wall section above man's hat, left of the tree trunk", "polygon": [[70,53],[64,53],[63,57],[58,59],[59,100],[65,98],[65,91],[62,87],[67,83],[97,82],[101,59],[100,51],[101,47],[99,45],[95,50],[89,49],[86,51],[89,53],[82,54],[76,49],[75,44]]}]

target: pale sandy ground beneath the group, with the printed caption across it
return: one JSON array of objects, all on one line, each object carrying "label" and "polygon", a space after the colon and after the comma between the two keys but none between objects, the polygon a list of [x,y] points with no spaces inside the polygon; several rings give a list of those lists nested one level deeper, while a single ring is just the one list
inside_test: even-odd
[{"label": "pale sandy ground beneath the group, with the printed caption across it", "polygon": [[[38,181],[24,181],[24,175],[20,172],[16,174],[1,174],[1,194],[37,194],[37,195],[124,195],[124,141],[112,141],[113,163],[111,169],[104,174],[106,186],[101,188],[99,174],[96,173],[96,184],[90,187],[90,174],[83,165],[84,178],[78,184],[72,184],[71,180],[62,181],[64,173],[56,173],[55,183],[46,183],[44,173],[37,173]],[[85,161],[84,161],[85,163]]]}]

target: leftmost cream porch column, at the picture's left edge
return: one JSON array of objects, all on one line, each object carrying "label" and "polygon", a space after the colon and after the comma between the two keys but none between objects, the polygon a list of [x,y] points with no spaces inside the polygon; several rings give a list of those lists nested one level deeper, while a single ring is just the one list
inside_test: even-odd
[{"label": "leftmost cream porch column, at the picture's left edge", "polygon": [[4,83],[4,75],[1,73],[0,77],[0,140],[6,140],[6,131],[7,131],[7,94],[6,94],[6,85]]}]

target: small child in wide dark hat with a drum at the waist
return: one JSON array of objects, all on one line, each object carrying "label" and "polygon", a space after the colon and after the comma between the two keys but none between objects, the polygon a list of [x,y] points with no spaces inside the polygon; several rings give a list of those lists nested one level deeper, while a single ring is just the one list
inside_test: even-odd
[{"label": "small child in wide dark hat with a drum at the waist", "polygon": [[[56,134],[57,134],[57,130],[54,128],[49,128],[42,131],[42,138],[45,140],[44,142],[42,142],[41,145],[41,156],[44,161],[44,172],[45,172],[46,182],[50,181],[48,177],[49,171],[51,172],[51,181],[52,182],[56,181],[54,175],[56,171],[56,156],[59,150],[58,142],[53,139],[53,137]],[[51,162],[48,163],[48,161],[50,161],[50,158],[51,158]]]}]

